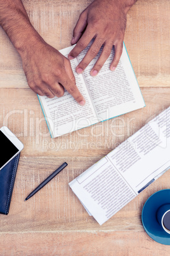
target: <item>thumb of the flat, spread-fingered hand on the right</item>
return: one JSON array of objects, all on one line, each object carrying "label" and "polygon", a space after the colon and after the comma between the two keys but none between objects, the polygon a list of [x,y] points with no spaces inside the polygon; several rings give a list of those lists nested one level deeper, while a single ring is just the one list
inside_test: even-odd
[{"label": "thumb of the flat, spread-fingered hand on the right", "polygon": [[82,32],[84,31],[87,25],[87,14],[86,11],[83,11],[79,17],[79,20],[77,21],[77,24],[74,27],[73,37],[71,41],[72,45],[74,45],[74,43],[77,43],[77,41],[81,38]]}]

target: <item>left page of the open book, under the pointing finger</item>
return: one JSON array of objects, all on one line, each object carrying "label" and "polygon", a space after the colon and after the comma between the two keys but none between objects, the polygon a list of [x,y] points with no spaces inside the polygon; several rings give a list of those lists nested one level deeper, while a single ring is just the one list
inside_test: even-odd
[{"label": "left page of the open book, under the pointing finger", "polygon": [[[60,50],[60,52],[67,57],[71,49],[72,46]],[[66,90],[64,96],[59,98],[54,97],[49,99],[46,96],[39,96],[42,111],[46,117],[46,122],[52,138],[76,131],[98,122],[88,90],[84,83],[84,78],[82,75],[77,75],[77,73],[75,73],[75,67],[77,64],[77,59],[71,60],[76,85],[86,100],[86,104],[84,106],[80,106],[75,101],[74,97],[72,97]]]}]

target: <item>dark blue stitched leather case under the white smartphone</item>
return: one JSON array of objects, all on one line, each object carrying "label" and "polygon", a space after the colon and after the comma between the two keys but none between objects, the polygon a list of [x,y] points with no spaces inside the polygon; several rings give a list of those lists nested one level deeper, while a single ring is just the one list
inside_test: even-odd
[{"label": "dark blue stitched leather case under the white smartphone", "polygon": [[0,171],[0,213],[8,215],[20,153]]}]

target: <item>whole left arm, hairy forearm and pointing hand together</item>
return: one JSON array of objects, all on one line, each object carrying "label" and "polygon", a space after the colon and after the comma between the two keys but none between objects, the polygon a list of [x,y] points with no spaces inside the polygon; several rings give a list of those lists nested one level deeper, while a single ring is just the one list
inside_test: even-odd
[{"label": "whole left arm, hairy forearm and pointing hand together", "polygon": [[27,82],[34,92],[61,97],[65,88],[79,104],[85,104],[69,59],[49,46],[32,27],[21,0],[0,0],[0,25],[22,57]]}]

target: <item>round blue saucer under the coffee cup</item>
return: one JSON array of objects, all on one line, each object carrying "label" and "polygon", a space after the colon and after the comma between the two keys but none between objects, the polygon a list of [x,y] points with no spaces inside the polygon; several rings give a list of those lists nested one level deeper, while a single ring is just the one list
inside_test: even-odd
[{"label": "round blue saucer under the coffee cup", "polygon": [[170,203],[170,189],[156,192],[148,198],[143,206],[141,220],[143,227],[150,238],[163,245],[170,245],[170,234],[157,221],[157,210],[162,204]]}]

